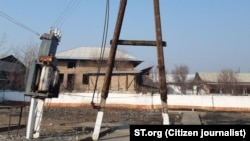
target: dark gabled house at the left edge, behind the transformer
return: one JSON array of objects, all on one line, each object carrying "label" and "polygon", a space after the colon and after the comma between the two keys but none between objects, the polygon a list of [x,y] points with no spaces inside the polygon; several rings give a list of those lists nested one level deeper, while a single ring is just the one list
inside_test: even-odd
[{"label": "dark gabled house at the left edge, behind the transformer", "polygon": [[0,58],[0,90],[23,90],[26,67],[13,55]]}]

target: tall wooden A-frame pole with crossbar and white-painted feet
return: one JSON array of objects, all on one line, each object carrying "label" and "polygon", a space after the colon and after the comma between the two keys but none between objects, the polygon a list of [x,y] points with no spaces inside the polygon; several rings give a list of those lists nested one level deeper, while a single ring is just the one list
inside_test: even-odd
[{"label": "tall wooden A-frame pole with crossbar and white-painted feet", "polygon": [[113,39],[111,41],[111,48],[110,48],[110,53],[109,53],[109,58],[108,58],[108,66],[106,69],[104,83],[103,83],[103,87],[101,91],[100,108],[97,113],[95,128],[94,128],[94,132],[92,135],[93,140],[98,140],[99,138],[106,99],[108,97],[108,92],[109,92],[112,70],[113,70],[114,62],[115,62],[117,45],[122,44],[122,43],[129,44],[129,45],[146,45],[146,46],[156,45],[157,46],[158,73],[159,73],[159,82],[160,82],[159,88],[160,88],[161,103],[162,103],[163,124],[164,125],[169,124],[168,107],[167,107],[167,85],[166,85],[166,74],[165,74],[164,53],[163,53],[163,46],[165,46],[166,43],[162,41],[159,0],[153,0],[153,1],[154,1],[155,31],[156,31],[155,43],[152,41],[130,40],[129,42],[126,42],[126,43],[124,43],[124,40],[119,41],[127,0],[121,0],[120,2],[120,8],[118,12],[117,21],[116,21],[115,31],[114,31]]}]

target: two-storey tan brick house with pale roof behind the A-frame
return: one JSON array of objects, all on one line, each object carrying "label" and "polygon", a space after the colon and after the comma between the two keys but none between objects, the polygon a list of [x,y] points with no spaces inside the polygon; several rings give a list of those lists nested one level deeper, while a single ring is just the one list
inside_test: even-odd
[{"label": "two-storey tan brick house with pale roof behind the A-frame", "polygon": [[[78,47],[57,53],[60,91],[101,92],[109,52],[110,48],[103,50],[98,47]],[[101,55],[102,59],[100,59]],[[109,91],[140,93],[158,90],[151,85],[152,80],[148,76],[151,67],[135,69],[142,62],[134,56],[117,50]],[[144,81],[146,79],[148,79],[147,83]]]}]

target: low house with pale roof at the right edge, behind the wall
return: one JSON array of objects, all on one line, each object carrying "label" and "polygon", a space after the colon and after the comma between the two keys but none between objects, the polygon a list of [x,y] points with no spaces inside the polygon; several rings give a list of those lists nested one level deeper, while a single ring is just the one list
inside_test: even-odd
[{"label": "low house with pale roof at the right edge, behind the wall", "polygon": [[197,72],[193,81],[197,94],[201,90],[204,90],[206,94],[248,94],[250,92],[250,73],[234,73],[233,75],[236,79],[231,82],[219,81],[220,74],[215,72]]}]

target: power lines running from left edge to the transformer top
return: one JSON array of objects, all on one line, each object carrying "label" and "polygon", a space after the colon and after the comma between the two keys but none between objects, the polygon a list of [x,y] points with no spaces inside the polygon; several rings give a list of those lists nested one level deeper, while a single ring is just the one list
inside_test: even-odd
[{"label": "power lines running from left edge to the transformer top", "polygon": [[40,35],[41,35],[40,33],[34,31],[33,29],[29,28],[28,26],[25,26],[25,25],[22,24],[21,22],[19,22],[19,21],[17,21],[16,19],[14,19],[14,18],[8,16],[7,14],[5,14],[5,13],[2,12],[2,11],[0,11],[0,16],[3,17],[3,18],[5,18],[6,20],[8,20],[8,21],[10,21],[10,22],[12,22],[12,23],[18,25],[19,27],[21,27],[21,28],[23,28],[23,29],[25,29],[25,30],[27,30],[27,31],[29,31],[29,32],[32,32],[32,33],[36,34],[37,36],[40,36]]}]

